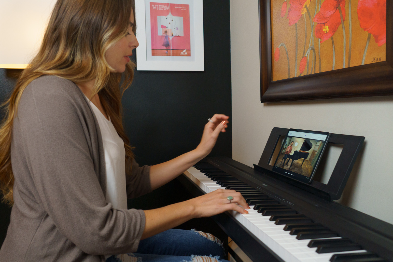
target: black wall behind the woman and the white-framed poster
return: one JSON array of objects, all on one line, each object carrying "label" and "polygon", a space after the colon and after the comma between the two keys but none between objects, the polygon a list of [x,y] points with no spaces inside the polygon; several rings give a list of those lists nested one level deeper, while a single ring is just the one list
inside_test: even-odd
[{"label": "black wall behind the woman and the white-framed poster", "polygon": [[[215,113],[231,116],[229,1],[204,1],[203,6],[205,71],[136,70],[134,82],[123,96],[125,129],[141,165],[161,163],[194,149],[209,117]],[[14,71],[0,69],[0,102],[13,89]],[[3,112],[0,116],[4,117]],[[220,134],[211,155],[232,156],[230,126]],[[150,209],[189,197],[172,181],[130,200],[129,207]],[[0,204],[0,245],[9,213],[10,209]]]}]

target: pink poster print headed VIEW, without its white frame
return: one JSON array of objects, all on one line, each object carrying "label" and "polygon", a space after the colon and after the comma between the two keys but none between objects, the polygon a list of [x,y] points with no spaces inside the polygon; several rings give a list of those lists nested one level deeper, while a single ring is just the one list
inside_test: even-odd
[{"label": "pink poster print headed VIEW, without its white frame", "polygon": [[151,55],[191,56],[190,6],[150,2]]}]

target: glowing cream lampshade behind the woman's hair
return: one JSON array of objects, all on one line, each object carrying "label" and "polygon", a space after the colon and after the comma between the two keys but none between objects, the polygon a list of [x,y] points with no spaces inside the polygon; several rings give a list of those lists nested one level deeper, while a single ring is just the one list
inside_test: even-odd
[{"label": "glowing cream lampshade behind the woman's hair", "polygon": [[0,68],[26,68],[37,54],[56,0],[0,0]]}]

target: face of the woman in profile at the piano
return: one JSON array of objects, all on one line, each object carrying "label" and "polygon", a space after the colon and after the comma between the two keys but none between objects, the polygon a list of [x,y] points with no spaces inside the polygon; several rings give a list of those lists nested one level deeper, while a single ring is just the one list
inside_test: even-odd
[{"label": "face of the woman in profile at the piano", "polygon": [[105,58],[107,59],[108,64],[116,73],[122,73],[125,71],[125,65],[130,62],[129,56],[132,55],[132,50],[139,46],[138,40],[136,40],[136,36],[132,32],[133,25],[134,14],[131,12],[130,26],[128,28],[127,35],[121,38],[105,52]]}]

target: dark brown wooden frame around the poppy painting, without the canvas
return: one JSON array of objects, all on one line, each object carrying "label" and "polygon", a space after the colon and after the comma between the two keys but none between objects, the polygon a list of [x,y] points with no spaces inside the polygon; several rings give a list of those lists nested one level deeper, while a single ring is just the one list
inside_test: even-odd
[{"label": "dark brown wooden frame around the poppy painting, without the canvas", "polygon": [[386,61],[272,81],[270,0],[259,0],[261,102],[393,95],[393,0],[386,0]]}]

